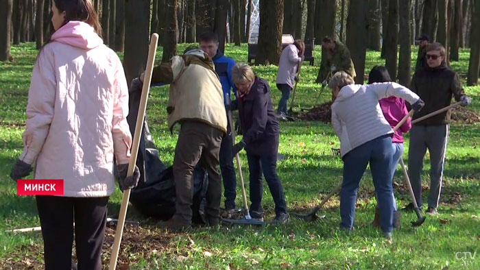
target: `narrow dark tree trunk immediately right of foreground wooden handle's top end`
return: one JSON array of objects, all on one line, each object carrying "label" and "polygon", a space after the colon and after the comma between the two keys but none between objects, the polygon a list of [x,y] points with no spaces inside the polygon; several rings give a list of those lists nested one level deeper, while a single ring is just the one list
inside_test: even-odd
[{"label": "narrow dark tree trunk immediately right of foreground wooden handle's top end", "polygon": [[162,62],[167,62],[172,56],[177,54],[177,0],[165,1],[165,36],[163,37],[163,56]]}]

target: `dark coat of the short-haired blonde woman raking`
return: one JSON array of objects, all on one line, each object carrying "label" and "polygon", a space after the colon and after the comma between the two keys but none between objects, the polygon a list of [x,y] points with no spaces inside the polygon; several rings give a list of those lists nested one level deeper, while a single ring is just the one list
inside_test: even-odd
[{"label": "dark coat of the short-haired blonde woman raking", "polygon": [[276,155],[279,129],[268,82],[255,77],[250,93],[232,101],[232,108],[239,110],[245,151],[252,155]]}]

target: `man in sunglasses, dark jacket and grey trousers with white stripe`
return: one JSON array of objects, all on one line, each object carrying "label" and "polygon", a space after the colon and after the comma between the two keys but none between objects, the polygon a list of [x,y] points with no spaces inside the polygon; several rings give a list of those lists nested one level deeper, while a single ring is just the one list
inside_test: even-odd
[{"label": "man in sunglasses, dark jacket and grey trousers with white stripe", "polygon": [[[445,63],[445,48],[440,43],[432,43],[427,49],[428,67],[413,74],[410,89],[425,102],[420,112],[413,114],[413,120],[426,114],[440,110],[451,103],[452,96],[461,101],[462,106],[470,104],[470,97],[465,95],[460,79]],[[423,168],[423,158],[429,149],[430,153],[430,193],[427,213],[436,214],[440,192],[442,190],[442,175],[445,161],[446,144],[448,140],[448,123],[451,119],[450,110],[415,123],[410,130],[409,173],[413,193],[418,206],[422,206],[422,180],[420,174]],[[409,204],[405,210],[412,210]]]}]

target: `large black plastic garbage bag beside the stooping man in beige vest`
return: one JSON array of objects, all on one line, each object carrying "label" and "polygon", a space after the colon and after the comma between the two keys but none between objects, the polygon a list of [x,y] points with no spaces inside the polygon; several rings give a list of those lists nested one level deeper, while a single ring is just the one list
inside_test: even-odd
[{"label": "large black plastic garbage bag beside the stooping man in beige vest", "polygon": [[[136,116],[139,112],[142,84],[134,79],[129,89],[129,114],[127,116],[130,132],[134,135]],[[167,220],[175,214],[175,181],[172,167],[165,164],[158,156],[158,150],[148,129],[147,119],[143,119],[143,130],[140,137],[139,154],[136,158],[140,180],[136,188],[130,192],[130,202],[142,214],[148,217]],[[193,222],[204,222],[206,188],[208,173],[202,167],[193,171]]]}]

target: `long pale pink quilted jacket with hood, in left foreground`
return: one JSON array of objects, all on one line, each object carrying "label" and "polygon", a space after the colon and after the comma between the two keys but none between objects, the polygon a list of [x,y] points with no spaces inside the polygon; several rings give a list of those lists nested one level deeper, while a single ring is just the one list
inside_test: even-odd
[{"label": "long pale pink quilted jacket with hood, in left foreground", "polygon": [[63,179],[64,196],[108,196],[115,189],[114,154],[117,164],[130,160],[127,114],[117,54],[93,27],[70,21],[34,66],[20,160],[36,160],[34,179]]}]

